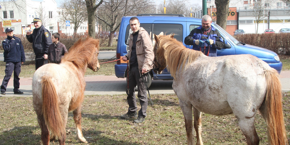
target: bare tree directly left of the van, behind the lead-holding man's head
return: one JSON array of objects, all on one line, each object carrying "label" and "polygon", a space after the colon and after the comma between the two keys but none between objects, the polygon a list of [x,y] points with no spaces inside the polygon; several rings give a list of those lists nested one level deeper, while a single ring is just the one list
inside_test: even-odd
[{"label": "bare tree directly left of the van, behind the lead-holding man's head", "polygon": [[99,6],[95,17],[104,22],[110,30],[108,46],[112,46],[114,33],[119,28],[123,16],[152,10],[153,5],[151,0],[108,0]]}]

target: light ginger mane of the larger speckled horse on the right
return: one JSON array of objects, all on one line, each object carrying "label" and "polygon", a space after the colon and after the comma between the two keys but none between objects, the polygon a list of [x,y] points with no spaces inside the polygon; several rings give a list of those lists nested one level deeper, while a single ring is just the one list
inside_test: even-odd
[{"label": "light ginger mane of the larger speckled horse on the right", "polygon": [[[170,74],[175,79],[176,71],[182,66],[182,71],[187,68],[197,57],[203,55],[201,51],[192,50],[186,48],[182,42],[177,41],[172,37],[173,35],[158,35],[158,55],[164,54],[163,57],[166,59],[167,68]],[[187,64],[186,64],[187,62]],[[186,64],[186,66],[185,66]]]}]

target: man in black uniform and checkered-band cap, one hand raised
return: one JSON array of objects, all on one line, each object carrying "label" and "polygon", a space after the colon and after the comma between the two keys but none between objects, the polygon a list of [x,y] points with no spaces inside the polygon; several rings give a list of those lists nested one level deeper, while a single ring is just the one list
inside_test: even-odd
[{"label": "man in black uniform and checkered-band cap, one hand raised", "polygon": [[52,44],[50,32],[41,24],[41,19],[34,18],[32,22],[35,29],[26,32],[27,40],[32,43],[35,54],[35,70],[48,63],[48,48]]}]

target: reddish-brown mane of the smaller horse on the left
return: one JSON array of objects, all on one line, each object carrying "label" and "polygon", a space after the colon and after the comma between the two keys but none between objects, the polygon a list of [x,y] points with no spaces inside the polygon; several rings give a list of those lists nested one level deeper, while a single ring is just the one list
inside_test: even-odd
[{"label": "reddish-brown mane of the smaller horse on the left", "polygon": [[95,51],[99,50],[99,40],[92,37],[80,38],[70,49],[68,53],[61,58],[61,62],[74,62],[78,68],[84,68]]}]

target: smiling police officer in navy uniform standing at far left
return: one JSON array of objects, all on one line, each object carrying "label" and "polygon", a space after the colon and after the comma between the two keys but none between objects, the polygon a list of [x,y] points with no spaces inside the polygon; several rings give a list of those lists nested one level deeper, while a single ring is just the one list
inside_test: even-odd
[{"label": "smiling police officer in navy uniform standing at far left", "polygon": [[24,49],[20,38],[13,35],[13,30],[11,28],[6,28],[5,30],[7,38],[3,40],[2,46],[4,49],[4,62],[6,62],[5,77],[1,85],[1,94],[6,95],[6,87],[12,72],[14,71],[13,85],[14,94],[23,94],[19,89],[19,74],[21,71],[21,64],[25,62]]}]

